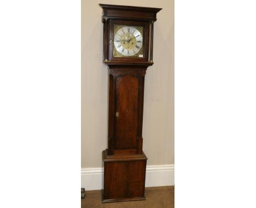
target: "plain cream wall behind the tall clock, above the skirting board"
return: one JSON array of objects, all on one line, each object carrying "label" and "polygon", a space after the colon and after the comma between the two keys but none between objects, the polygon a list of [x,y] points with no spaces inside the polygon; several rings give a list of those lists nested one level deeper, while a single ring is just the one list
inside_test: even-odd
[{"label": "plain cream wall behind the tall clock, above the skirting board", "polygon": [[162,8],[145,79],[143,151],[148,165],[174,164],[174,1],[82,0],[82,168],[100,168],[107,148],[108,74],[98,3]]}]

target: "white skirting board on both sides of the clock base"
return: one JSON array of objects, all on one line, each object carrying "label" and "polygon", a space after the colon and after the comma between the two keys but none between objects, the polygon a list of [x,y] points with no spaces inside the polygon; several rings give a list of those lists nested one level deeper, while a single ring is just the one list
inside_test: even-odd
[{"label": "white skirting board on both sides of the clock base", "polygon": [[[81,187],[89,190],[100,190],[103,184],[102,168],[82,168]],[[147,166],[146,187],[173,186],[174,185],[174,164]]]}]

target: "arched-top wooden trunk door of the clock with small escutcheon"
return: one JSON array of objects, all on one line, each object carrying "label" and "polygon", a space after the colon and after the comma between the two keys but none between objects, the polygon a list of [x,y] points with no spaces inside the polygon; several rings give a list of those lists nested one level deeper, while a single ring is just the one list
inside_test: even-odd
[{"label": "arched-top wooden trunk door of the clock with small escutcheon", "polygon": [[115,117],[115,149],[136,148],[139,77],[124,74],[117,76],[115,80],[115,104],[119,114]]}]

